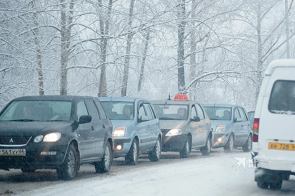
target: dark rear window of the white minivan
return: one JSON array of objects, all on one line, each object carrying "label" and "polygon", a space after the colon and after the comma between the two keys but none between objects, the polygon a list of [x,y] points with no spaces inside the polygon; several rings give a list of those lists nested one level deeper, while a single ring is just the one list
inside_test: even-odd
[{"label": "dark rear window of the white minivan", "polygon": [[271,113],[295,115],[295,81],[277,80],[269,97]]}]

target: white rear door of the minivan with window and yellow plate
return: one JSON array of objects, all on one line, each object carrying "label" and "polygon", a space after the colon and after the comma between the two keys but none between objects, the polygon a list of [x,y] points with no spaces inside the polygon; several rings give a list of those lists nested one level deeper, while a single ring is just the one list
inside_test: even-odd
[{"label": "white rear door of the minivan with window and yellow plate", "polygon": [[266,85],[259,115],[259,156],[295,156],[294,73],[294,67],[276,67]]}]

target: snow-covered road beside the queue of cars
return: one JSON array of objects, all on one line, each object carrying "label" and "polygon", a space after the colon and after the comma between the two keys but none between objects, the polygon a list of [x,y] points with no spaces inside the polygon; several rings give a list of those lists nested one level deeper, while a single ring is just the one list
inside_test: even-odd
[{"label": "snow-covered road beside the queue of cars", "polygon": [[59,181],[54,170],[0,171],[0,195],[7,189],[16,195],[295,195],[294,176],[283,182],[281,190],[259,189],[254,169],[246,165],[245,171],[241,165],[236,170],[232,157],[250,157],[250,153],[212,149],[210,156],[192,151],[188,159],[163,153],[156,163],[141,156],[136,166],[124,165],[119,158],[107,174],[96,174],[93,166],[83,165],[72,181]]}]

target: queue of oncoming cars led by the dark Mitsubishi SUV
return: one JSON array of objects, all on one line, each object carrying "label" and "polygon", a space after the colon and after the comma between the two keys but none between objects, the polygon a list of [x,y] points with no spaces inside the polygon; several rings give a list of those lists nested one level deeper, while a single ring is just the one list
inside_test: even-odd
[{"label": "queue of oncoming cars led by the dark Mitsubishi SUV", "polygon": [[118,157],[134,165],[141,154],[159,161],[161,152],[179,152],[181,158],[192,149],[208,156],[211,147],[246,152],[252,144],[250,127],[243,107],[201,105],[186,94],[158,101],[24,96],[0,112],[0,169],[56,169],[59,179],[71,180],[81,164],[104,173]]}]

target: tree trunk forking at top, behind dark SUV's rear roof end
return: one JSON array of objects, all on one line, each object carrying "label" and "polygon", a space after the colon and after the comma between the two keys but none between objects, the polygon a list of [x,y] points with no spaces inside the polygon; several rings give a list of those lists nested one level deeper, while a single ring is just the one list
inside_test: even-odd
[{"label": "tree trunk forking at top, behind dark SUV's rear roof end", "polygon": [[[101,0],[99,0],[99,5],[101,6]],[[102,39],[100,40],[100,77],[99,77],[99,88],[98,88],[98,97],[107,96],[107,82],[106,82],[106,75],[105,75],[105,62],[107,59],[107,47],[108,47],[108,35],[109,33],[109,21],[110,20],[110,11],[112,8],[113,1],[109,0],[108,2],[108,13],[107,18],[100,16],[100,34],[102,35]]]}]

